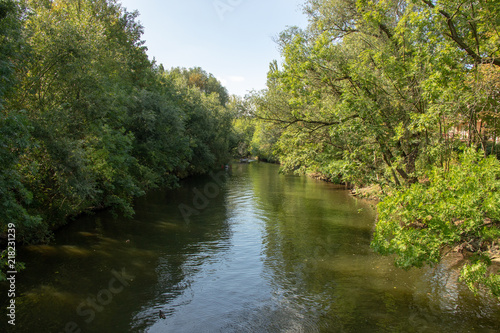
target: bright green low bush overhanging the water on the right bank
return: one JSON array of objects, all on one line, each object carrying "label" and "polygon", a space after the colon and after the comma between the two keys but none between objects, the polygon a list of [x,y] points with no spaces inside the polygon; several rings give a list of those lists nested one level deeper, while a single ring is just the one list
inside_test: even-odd
[{"label": "bright green low bush overhanging the water on the right bank", "polygon": [[[500,236],[500,162],[481,155],[467,150],[449,170],[435,167],[426,183],[385,197],[378,205],[375,251],[395,254],[396,265],[406,269],[438,263],[446,248],[473,252],[480,262],[465,267],[464,279],[500,296],[498,276],[480,269],[491,263],[488,249]],[[473,278],[478,272],[481,278]]]}]

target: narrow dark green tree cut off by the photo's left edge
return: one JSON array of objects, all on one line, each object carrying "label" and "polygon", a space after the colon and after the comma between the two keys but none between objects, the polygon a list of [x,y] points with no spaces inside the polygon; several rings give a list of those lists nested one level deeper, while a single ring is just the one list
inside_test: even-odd
[{"label": "narrow dark green tree cut off by the photo's left edge", "polygon": [[[24,186],[18,169],[22,155],[32,144],[29,121],[24,112],[8,107],[8,97],[15,91],[15,65],[23,55],[24,12],[19,2],[0,1],[0,235],[4,238],[12,223],[19,242],[47,237],[47,228],[41,218],[25,208],[31,203],[33,194]],[[0,280],[3,280],[7,250],[1,250]],[[20,269],[23,265],[17,263],[16,266]]]}]

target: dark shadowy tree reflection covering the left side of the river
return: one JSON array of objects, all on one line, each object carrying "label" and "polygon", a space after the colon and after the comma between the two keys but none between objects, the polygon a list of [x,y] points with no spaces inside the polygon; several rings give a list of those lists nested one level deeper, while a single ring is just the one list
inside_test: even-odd
[{"label": "dark shadowy tree reflection covering the left side of the river", "polygon": [[[223,189],[190,224],[178,210],[192,202],[195,186],[209,181],[199,177],[178,190],[152,191],[137,200],[134,220],[108,212],[85,216],[58,232],[54,244],[26,248],[19,254],[28,269],[17,281],[23,293],[16,297],[16,329],[59,332],[74,321],[84,332],[128,332],[131,322],[133,331],[143,331],[158,320],[159,308],[168,315],[167,304],[189,289],[202,264],[231,245]],[[77,307],[108,288],[111,271],[122,268],[134,281],[86,324]]]}]

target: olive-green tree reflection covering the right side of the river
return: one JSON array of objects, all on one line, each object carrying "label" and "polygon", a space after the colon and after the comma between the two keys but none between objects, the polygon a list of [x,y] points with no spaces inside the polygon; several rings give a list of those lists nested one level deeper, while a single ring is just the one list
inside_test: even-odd
[{"label": "olive-green tree reflection covering the right side of the river", "polygon": [[441,332],[479,322],[495,327],[496,302],[474,298],[457,284],[456,269],[405,272],[374,254],[372,210],[346,192],[277,176],[278,168],[269,165],[251,165],[249,172],[264,221],[274,316],[295,314],[325,332]]}]

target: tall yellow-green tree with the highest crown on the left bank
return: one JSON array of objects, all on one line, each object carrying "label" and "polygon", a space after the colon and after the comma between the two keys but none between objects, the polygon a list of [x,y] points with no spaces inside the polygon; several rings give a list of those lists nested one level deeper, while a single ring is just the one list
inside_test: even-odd
[{"label": "tall yellow-green tree with the highest crown on the left bank", "polygon": [[[140,194],[130,170],[133,136],[120,98],[148,69],[133,16],[111,1],[29,1],[25,33],[31,54],[20,66],[13,102],[29,110],[36,146],[25,178],[31,208],[51,227],[99,206],[131,212]],[[134,56],[134,57],[132,57]],[[141,64],[142,68],[138,66]]]}]

